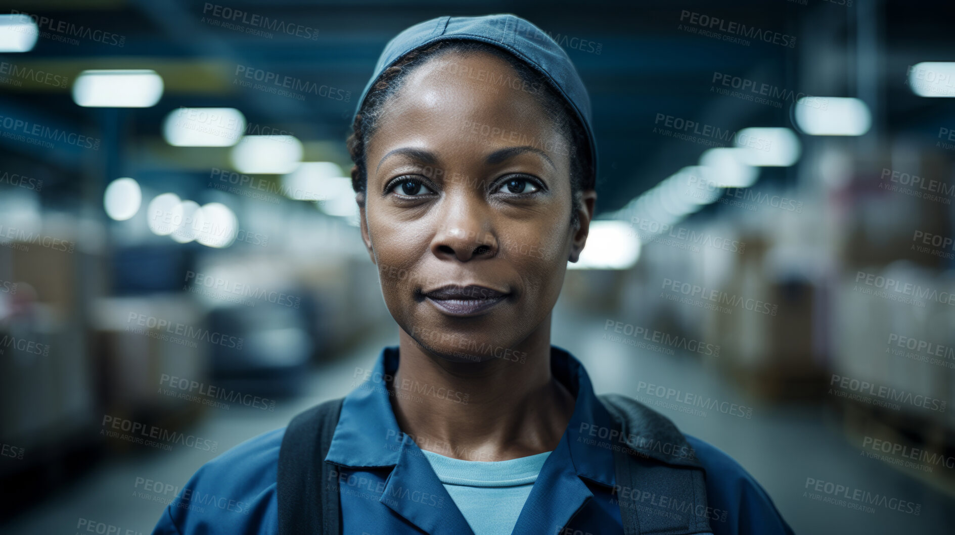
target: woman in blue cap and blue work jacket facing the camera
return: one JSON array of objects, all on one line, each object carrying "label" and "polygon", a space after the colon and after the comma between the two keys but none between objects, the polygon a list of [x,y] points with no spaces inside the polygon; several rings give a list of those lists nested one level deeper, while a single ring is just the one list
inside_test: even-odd
[{"label": "woman in blue cap and blue work jacket facing the camera", "polygon": [[415,25],[353,130],[399,344],[344,401],[203,465],[154,533],[791,533],[732,459],[598,398],[550,345],[596,199],[588,97],[556,43],[513,15]]}]

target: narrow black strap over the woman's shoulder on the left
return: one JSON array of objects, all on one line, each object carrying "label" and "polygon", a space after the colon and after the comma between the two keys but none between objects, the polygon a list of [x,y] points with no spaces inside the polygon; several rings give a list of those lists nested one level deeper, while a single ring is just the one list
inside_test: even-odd
[{"label": "narrow black strap over the woman's shoulder on the left", "polygon": [[280,535],[339,535],[342,531],[338,480],[333,477],[334,468],[325,462],[342,401],[344,398],[316,405],[299,413],[286,427],[277,481]]}]

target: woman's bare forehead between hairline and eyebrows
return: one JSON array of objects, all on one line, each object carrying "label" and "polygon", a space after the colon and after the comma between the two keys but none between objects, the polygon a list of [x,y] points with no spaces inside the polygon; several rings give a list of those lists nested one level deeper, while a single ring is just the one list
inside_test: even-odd
[{"label": "woman's bare forehead between hairline and eyebrows", "polygon": [[409,73],[385,104],[369,152],[398,144],[474,152],[531,145],[561,161],[566,142],[541,106],[542,91],[495,55],[444,53]]}]

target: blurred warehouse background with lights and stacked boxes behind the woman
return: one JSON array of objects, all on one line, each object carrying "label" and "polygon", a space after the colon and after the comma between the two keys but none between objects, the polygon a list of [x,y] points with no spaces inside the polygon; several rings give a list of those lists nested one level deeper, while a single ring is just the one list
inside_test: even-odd
[{"label": "blurred warehouse background with lights and stacked boxes behind the woman", "polygon": [[398,31],[514,12],[581,72],[603,166],[554,343],[797,533],[952,532],[950,2],[0,8],[0,531],[148,533],[202,463],[360,381],[397,335],[355,100]]}]

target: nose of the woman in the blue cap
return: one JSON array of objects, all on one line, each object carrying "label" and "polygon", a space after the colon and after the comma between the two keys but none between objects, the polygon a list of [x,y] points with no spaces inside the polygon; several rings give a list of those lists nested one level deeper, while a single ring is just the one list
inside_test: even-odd
[{"label": "nose of the woman in the blue cap", "polygon": [[479,208],[462,204],[449,207],[437,225],[431,252],[441,259],[466,262],[498,255],[498,239],[490,231],[490,221]]}]

